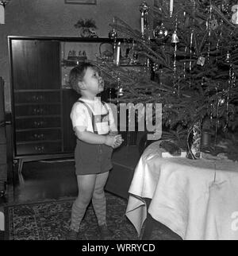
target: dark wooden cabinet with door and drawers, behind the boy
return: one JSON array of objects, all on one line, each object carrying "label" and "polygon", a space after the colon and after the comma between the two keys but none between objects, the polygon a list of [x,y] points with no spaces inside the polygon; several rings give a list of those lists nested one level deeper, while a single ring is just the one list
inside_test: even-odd
[{"label": "dark wooden cabinet with door and drawers, behind the boy", "polygon": [[25,161],[73,156],[75,134],[69,115],[78,95],[61,86],[60,42],[9,37],[9,49],[13,161],[18,172]]}]

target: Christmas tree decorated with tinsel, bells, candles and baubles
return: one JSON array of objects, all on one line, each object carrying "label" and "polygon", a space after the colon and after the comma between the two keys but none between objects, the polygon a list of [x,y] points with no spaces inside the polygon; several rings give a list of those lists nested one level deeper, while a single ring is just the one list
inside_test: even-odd
[{"label": "Christmas tree decorated with tinsel, bells, candles and baubles", "polygon": [[[171,6],[172,5],[172,6]],[[109,37],[123,37],[144,72],[101,64],[106,79],[120,89],[123,103],[162,103],[163,126],[188,133],[235,130],[238,124],[238,4],[232,0],[142,2],[141,31],[114,17]],[[153,27],[150,20],[153,20]],[[152,76],[148,76],[148,73]],[[117,99],[118,100],[118,99]]]}]

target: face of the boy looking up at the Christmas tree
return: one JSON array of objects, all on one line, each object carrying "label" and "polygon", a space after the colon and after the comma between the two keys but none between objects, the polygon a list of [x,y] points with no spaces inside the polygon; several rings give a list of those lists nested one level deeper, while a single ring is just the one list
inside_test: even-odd
[{"label": "face of the boy looking up at the Christmas tree", "polygon": [[104,90],[104,82],[96,68],[86,68],[82,83],[84,89],[93,95],[98,95],[98,93]]}]

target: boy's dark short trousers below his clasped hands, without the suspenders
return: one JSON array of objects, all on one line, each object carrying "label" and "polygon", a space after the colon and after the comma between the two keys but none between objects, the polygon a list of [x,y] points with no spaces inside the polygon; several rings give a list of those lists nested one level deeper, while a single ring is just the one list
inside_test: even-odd
[{"label": "boy's dark short trousers below his clasped hands, without the suspenders", "polygon": [[113,148],[103,144],[90,144],[77,140],[75,147],[76,175],[106,173],[113,168]]}]

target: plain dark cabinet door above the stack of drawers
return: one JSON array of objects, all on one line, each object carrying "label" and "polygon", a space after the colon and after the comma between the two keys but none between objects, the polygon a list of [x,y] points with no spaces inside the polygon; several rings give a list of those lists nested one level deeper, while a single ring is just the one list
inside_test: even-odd
[{"label": "plain dark cabinet door above the stack of drawers", "polygon": [[14,90],[59,89],[59,42],[12,40]]}]

